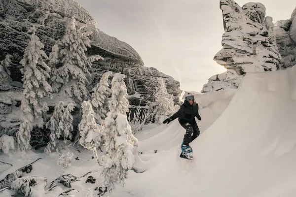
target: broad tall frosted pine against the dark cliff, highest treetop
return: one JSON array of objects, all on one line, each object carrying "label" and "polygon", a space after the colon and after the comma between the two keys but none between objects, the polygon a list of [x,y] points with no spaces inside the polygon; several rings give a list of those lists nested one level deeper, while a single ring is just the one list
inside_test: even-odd
[{"label": "broad tall frosted pine against the dark cliff, highest treetop", "polygon": [[64,37],[56,42],[49,55],[53,92],[66,93],[77,103],[89,97],[86,85],[91,61],[85,54],[87,47],[90,47],[89,34],[82,28],[78,29],[72,18],[66,26]]}]

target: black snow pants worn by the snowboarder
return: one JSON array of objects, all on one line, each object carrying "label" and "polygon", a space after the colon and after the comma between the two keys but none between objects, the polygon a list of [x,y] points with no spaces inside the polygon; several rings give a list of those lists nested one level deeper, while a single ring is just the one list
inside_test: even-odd
[{"label": "black snow pants worn by the snowboarder", "polygon": [[199,128],[196,124],[195,119],[188,122],[184,119],[179,118],[180,125],[186,130],[186,133],[184,135],[183,144],[189,145],[191,141],[193,141],[196,137],[199,135]]}]

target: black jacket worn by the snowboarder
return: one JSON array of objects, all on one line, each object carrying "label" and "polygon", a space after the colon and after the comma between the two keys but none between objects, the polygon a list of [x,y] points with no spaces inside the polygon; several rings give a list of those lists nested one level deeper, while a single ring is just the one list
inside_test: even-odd
[{"label": "black jacket worn by the snowboarder", "polygon": [[196,102],[193,102],[192,105],[190,105],[188,101],[185,100],[184,103],[181,105],[180,109],[170,118],[172,120],[180,118],[185,121],[191,122],[194,120],[195,117],[200,117],[198,114],[198,104]]}]

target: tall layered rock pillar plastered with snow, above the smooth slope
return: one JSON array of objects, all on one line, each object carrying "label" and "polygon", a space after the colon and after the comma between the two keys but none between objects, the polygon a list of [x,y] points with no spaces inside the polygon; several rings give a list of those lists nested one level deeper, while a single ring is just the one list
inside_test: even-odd
[{"label": "tall layered rock pillar plastered with snow, above the smooth slope", "polygon": [[220,0],[225,33],[223,48],[214,60],[227,71],[216,74],[202,92],[237,88],[247,72],[274,71],[280,67],[281,55],[273,32],[272,18],[265,17],[261,3],[242,7],[234,0]]}]

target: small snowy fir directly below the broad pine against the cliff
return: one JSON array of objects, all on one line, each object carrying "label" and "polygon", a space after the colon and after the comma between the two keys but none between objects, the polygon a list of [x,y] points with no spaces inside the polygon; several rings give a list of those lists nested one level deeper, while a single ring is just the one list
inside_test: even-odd
[{"label": "small snowy fir directly below the broad pine against the cliff", "polygon": [[65,103],[60,101],[55,106],[52,116],[46,123],[47,129],[50,130],[50,141],[44,149],[46,154],[51,153],[54,149],[58,154],[61,152],[62,144],[59,143],[58,138],[64,137],[64,142],[67,142],[67,137],[72,138],[73,131],[73,116],[71,112],[74,110],[74,104],[69,103],[64,107]]}]

